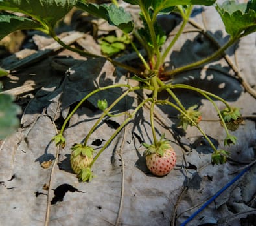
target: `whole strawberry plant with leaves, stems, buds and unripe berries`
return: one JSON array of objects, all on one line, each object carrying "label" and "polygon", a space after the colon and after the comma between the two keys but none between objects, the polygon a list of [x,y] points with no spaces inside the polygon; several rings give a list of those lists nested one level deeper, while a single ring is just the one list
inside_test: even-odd
[{"label": "whole strawberry plant with leaves, stems, buds and unripe berries", "polygon": [[[172,51],[174,44],[176,41],[178,41],[181,33],[183,32],[183,29],[185,28],[185,25],[189,21],[193,6],[212,6],[215,4],[215,0],[126,0],[124,2],[129,3],[130,5],[135,5],[139,8],[139,17],[143,23],[142,27],[136,28],[132,19],[132,15],[130,15],[129,12],[126,12],[124,8],[119,7],[117,1],[113,1],[112,4],[97,5],[93,3],[86,3],[82,0],[0,0],[0,10],[3,10],[3,12],[0,14],[0,39],[5,37],[10,32],[14,32],[15,30],[40,30],[41,32],[45,32],[45,34],[51,36],[64,48],[77,52],[78,54],[87,57],[104,57],[106,60],[113,63],[113,65],[116,67],[122,67],[131,72],[134,75],[132,78],[139,82],[139,85],[136,86],[120,83],[108,85],[106,87],[97,88],[96,90],[93,90],[87,94],[70,112],[67,118],[65,118],[60,132],[54,136],[53,140],[55,141],[56,145],[65,145],[65,138],[63,136],[65,127],[71,116],[76,112],[76,110],[78,110],[84,101],[103,90],[124,88],[122,95],[115,99],[115,101],[113,101],[113,103],[111,103],[109,106],[107,100],[99,100],[98,107],[100,110],[102,110],[101,116],[96,121],[95,125],[93,125],[93,127],[91,127],[87,132],[87,136],[84,139],[84,142],[79,145],[75,145],[72,148],[71,165],[76,174],[78,174],[78,178],[81,181],[91,180],[91,167],[93,167],[93,164],[97,158],[99,158],[100,154],[108,147],[108,145],[110,145],[115,136],[117,136],[122,128],[124,128],[126,124],[134,118],[135,114],[137,114],[137,112],[144,105],[150,105],[150,123],[152,129],[152,144],[145,144],[147,149],[145,156],[148,168],[154,174],[165,175],[171,169],[173,169],[176,163],[176,154],[170,147],[169,141],[164,139],[163,136],[161,138],[157,138],[156,136],[154,127],[154,108],[156,105],[169,105],[170,107],[178,110],[178,112],[180,112],[178,116],[180,123],[178,126],[183,128],[183,130],[186,130],[189,126],[198,128],[198,130],[202,133],[202,135],[209,142],[213,149],[213,164],[218,165],[226,163],[229,153],[226,150],[218,150],[199,125],[200,121],[202,120],[202,113],[198,111],[196,105],[185,108],[178,96],[176,96],[175,90],[192,90],[193,92],[197,92],[198,94],[202,95],[205,99],[208,99],[213,104],[213,108],[215,108],[216,114],[219,116],[222,126],[226,131],[224,145],[235,144],[237,141],[235,136],[229,134],[230,126],[227,127],[227,125],[231,123],[236,123],[236,125],[239,125],[241,122],[239,108],[231,107],[227,101],[211,92],[207,92],[206,90],[192,87],[190,85],[185,85],[183,83],[172,84],[170,79],[172,76],[180,72],[191,70],[192,68],[204,65],[205,63],[209,63],[213,59],[216,59],[216,57],[221,56],[224,51],[229,48],[229,46],[236,43],[240,38],[255,32],[256,1],[251,0],[248,1],[248,3],[241,4],[238,4],[235,1],[225,1],[222,5],[216,4],[215,8],[220,14],[220,17],[222,18],[222,21],[226,27],[226,32],[229,34],[229,40],[221,48],[216,50],[216,52],[211,54],[211,56],[208,56],[205,59],[201,59],[200,61],[190,63],[189,65],[183,65],[179,68],[174,68],[172,70],[166,70],[164,63],[167,55],[170,51]],[[122,36],[119,38],[107,36],[100,40],[102,50],[103,52],[106,52],[108,56],[98,56],[96,54],[91,54],[90,52],[68,46],[56,35],[54,27],[58,21],[62,19],[67,14],[67,12],[71,10],[71,8],[75,6],[80,8],[80,10],[88,12],[89,14],[105,19],[110,25],[117,26],[117,28],[122,31]],[[19,12],[25,14],[25,16],[21,16],[20,14],[16,15],[10,12]],[[163,31],[163,28],[161,28],[159,25],[157,16],[159,14],[170,14],[172,12],[180,15],[182,18],[182,23],[180,29],[173,37],[169,45],[167,45],[166,48],[163,48],[163,44],[165,43],[167,36]],[[137,53],[137,56],[141,61],[141,68],[143,69],[139,70],[137,67],[132,67],[129,63],[124,64],[119,61],[115,61],[115,59],[110,57],[120,50],[123,50],[125,45],[128,45],[128,43],[130,43],[134,51]],[[140,49],[137,47],[138,45],[144,48],[146,56],[141,54]],[[143,101],[141,101],[141,103],[139,103],[139,105],[137,105],[137,107],[135,107],[133,110],[131,110],[130,113],[120,113],[126,114],[126,119],[117,128],[117,130],[111,134],[108,141],[106,141],[99,152],[97,152],[97,154],[95,154],[93,157],[93,151],[87,145],[91,134],[93,134],[93,132],[99,126],[99,123],[106,116],[119,116],[120,114],[110,114],[111,109],[115,107],[115,105],[117,105],[117,103],[119,103],[121,99],[125,98],[130,92],[137,92],[137,90],[148,90],[151,92],[151,96],[143,99]],[[169,99],[159,98],[159,93],[164,91],[169,94],[169,98],[174,99],[174,103],[169,101]],[[217,107],[215,100],[221,101],[223,103],[224,110],[220,110]],[[163,172],[160,172],[160,169],[158,168],[154,170],[154,163],[156,162],[156,159],[159,159],[159,161],[163,163],[164,167],[166,168],[163,170]]]}]

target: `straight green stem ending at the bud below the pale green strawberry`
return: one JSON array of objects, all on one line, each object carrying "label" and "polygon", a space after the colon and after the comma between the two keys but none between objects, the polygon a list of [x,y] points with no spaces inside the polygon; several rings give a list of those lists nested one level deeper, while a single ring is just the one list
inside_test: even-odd
[{"label": "straight green stem ending at the bud below the pale green strawberry", "polygon": [[95,163],[95,161],[97,160],[97,158],[99,158],[100,154],[106,149],[106,147],[108,147],[108,145],[110,145],[111,141],[115,138],[115,136],[117,136],[117,134],[119,134],[119,132],[122,130],[122,128],[132,119],[134,118],[135,114],[137,113],[137,111],[143,107],[143,105],[145,105],[146,102],[148,101],[152,101],[151,98],[145,99],[144,101],[142,101],[134,110],[134,112],[132,112],[132,114],[130,115],[130,117],[126,118],[125,121],[119,126],[119,128],[117,128],[117,130],[115,130],[115,132],[112,134],[112,136],[110,137],[110,139],[108,139],[108,141],[106,141],[105,145],[102,147],[102,149],[99,150],[99,152],[97,153],[97,155],[93,158],[93,161],[90,164],[90,167],[93,165],[93,163]]}]

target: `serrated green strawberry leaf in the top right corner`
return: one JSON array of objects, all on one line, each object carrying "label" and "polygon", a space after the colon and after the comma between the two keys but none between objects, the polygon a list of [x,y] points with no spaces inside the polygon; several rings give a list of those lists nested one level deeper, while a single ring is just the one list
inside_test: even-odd
[{"label": "serrated green strawberry leaf in the top right corner", "polygon": [[236,3],[236,1],[225,1],[222,5],[216,5],[225,25],[226,32],[233,38],[248,35],[256,31],[256,3]]}]

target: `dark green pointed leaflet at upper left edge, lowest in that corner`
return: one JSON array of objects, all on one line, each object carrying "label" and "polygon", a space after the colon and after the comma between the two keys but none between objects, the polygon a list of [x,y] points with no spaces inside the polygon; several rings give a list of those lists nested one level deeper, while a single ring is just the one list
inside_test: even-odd
[{"label": "dark green pointed leaflet at upper left edge, lowest in that corner", "polygon": [[32,19],[12,14],[0,14],[0,26],[0,40],[16,30],[43,30],[43,26]]}]

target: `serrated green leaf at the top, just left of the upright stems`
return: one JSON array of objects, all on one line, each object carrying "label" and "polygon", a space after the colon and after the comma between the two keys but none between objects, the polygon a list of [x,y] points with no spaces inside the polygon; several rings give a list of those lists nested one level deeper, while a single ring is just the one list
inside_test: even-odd
[{"label": "serrated green leaf at the top, just left of the upright stems", "polygon": [[102,4],[97,5],[93,3],[83,3],[78,1],[76,6],[89,14],[95,15],[108,21],[110,25],[117,26],[125,33],[130,33],[134,29],[134,23],[132,22],[132,16],[130,13],[125,12],[124,8],[117,7],[115,4]]}]

